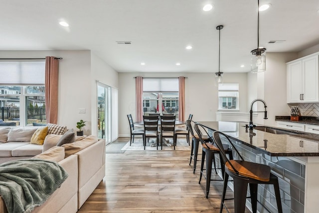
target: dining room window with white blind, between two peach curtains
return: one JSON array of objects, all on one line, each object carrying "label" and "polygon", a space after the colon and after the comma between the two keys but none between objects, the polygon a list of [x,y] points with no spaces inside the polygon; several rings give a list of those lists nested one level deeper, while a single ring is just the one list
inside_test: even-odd
[{"label": "dining room window with white blind, between two peach curtains", "polygon": [[[149,113],[173,113],[178,116],[178,79],[143,79],[143,111]],[[159,106],[161,103],[161,107]]]}]

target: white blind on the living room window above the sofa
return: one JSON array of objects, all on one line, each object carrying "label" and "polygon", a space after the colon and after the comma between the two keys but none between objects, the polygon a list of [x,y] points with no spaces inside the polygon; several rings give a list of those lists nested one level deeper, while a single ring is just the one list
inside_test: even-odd
[{"label": "white blind on the living room window above the sofa", "polygon": [[45,61],[0,61],[0,84],[45,84]]}]

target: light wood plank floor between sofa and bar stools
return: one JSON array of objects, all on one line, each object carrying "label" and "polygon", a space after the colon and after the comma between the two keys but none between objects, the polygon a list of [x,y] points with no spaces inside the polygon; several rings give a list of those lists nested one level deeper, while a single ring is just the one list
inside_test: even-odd
[{"label": "light wood plank floor between sofa and bar stools", "polygon": [[[219,212],[223,182],[211,181],[206,199],[206,180],[198,184],[200,162],[193,174],[189,155],[176,150],[107,153],[106,176],[78,213]],[[227,197],[233,197],[232,191]],[[233,200],[226,205],[233,212]]]}]

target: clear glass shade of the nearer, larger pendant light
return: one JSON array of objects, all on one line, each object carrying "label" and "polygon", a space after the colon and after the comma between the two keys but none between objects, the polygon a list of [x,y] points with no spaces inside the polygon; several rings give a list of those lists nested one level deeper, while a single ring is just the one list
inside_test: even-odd
[{"label": "clear glass shade of the nearer, larger pendant light", "polygon": [[250,70],[252,73],[266,71],[266,48],[257,48],[251,52]]}]

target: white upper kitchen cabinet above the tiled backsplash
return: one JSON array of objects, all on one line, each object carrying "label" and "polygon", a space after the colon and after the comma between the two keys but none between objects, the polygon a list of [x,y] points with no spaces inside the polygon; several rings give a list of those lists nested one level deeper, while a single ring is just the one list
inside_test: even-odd
[{"label": "white upper kitchen cabinet above the tiled backsplash", "polygon": [[287,103],[319,102],[318,54],[287,63]]}]

